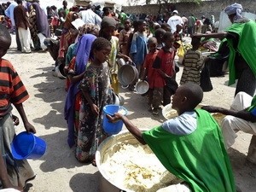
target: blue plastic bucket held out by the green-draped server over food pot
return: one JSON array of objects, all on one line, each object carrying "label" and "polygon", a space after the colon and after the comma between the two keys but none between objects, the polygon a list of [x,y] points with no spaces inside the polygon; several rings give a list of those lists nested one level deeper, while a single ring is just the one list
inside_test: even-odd
[{"label": "blue plastic bucket held out by the green-draped server over food pot", "polygon": [[113,116],[113,113],[123,113],[123,115],[127,114],[126,108],[119,106],[119,105],[106,105],[103,108],[104,117],[103,117],[103,130],[108,133],[108,135],[115,135],[118,134],[119,131],[122,130],[123,121],[119,120],[115,123],[109,122],[106,114]]}]

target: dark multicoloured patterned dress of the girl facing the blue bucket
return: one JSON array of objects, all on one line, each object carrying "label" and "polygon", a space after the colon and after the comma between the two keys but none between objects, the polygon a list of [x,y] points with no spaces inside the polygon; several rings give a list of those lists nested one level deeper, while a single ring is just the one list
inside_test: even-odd
[{"label": "dark multicoloured patterned dress of the girl facing the blue bucket", "polygon": [[87,67],[84,79],[79,84],[79,88],[88,92],[92,102],[99,108],[99,115],[94,115],[90,109],[90,104],[83,96],[76,146],[76,158],[81,162],[93,160],[99,144],[107,137],[107,134],[102,130],[102,120],[103,107],[108,100],[109,83],[108,64],[103,63],[102,67],[93,65]]}]

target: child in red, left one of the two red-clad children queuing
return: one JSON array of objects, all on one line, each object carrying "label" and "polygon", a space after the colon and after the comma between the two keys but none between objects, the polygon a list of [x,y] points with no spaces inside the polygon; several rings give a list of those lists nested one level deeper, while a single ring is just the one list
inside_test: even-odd
[{"label": "child in red, left one of the two red-clad children queuing", "polygon": [[148,79],[149,84],[149,90],[148,90],[148,111],[152,112],[152,106],[153,108],[158,108],[159,106],[154,106],[153,102],[153,92],[154,92],[154,68],[153,63],[156,55],[158,54],[157,47],[157,40],[156,38],[148,38],[148,55],[146,55],[143,67],[143,80]]}]

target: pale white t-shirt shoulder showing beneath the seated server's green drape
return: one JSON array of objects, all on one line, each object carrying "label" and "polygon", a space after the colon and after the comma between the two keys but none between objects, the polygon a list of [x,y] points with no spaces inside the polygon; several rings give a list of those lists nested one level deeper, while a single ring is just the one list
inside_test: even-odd
[{"label": "pale white t-shirt shoulder showing beneath the seated server's green drape", "polygon": [[162,124],[164,130],[175,135],[189,135],[196,130],[196,113],[185,112],[173,119],[168,119]]}]

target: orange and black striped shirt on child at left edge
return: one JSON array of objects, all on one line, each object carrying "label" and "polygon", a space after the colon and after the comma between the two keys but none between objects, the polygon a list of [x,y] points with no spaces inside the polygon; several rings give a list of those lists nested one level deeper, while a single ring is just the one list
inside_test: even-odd
[{"label": "orange and black striped shirt on child at left edge", "polygon": [[12,110],[11,104],[20,104],[28,93],[13,65],[0,59],[0,117]]}]

